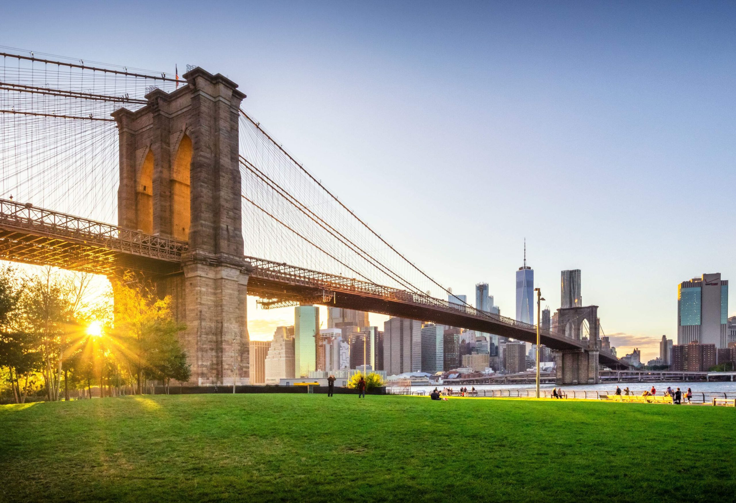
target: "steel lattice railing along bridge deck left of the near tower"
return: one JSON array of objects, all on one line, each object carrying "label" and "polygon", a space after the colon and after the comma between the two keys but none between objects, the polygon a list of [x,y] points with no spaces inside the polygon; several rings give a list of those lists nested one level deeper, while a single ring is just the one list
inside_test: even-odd
[{"label": "steel lattice railing along bridge deck left of the near tower", "polygon": [[188,248],[176,239],[5,199],[0,199],[0,229],[172,262],[181,261]]}]

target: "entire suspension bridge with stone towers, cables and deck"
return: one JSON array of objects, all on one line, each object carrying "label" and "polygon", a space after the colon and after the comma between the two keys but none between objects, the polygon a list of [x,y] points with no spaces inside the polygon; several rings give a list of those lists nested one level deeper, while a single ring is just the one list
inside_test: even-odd
[{"label": "entire suspension bridge with stone towers, cables and deck", "polygon": [[[144,275],[186,325],[191,384],[247,383],[247,295],[536,342],[534,325],[431,296],[447,290],[244,111],[222,74],[0,54],[0,258]],[[627,366],[587,321],[587,339],[541,331],[560,383]]]}]

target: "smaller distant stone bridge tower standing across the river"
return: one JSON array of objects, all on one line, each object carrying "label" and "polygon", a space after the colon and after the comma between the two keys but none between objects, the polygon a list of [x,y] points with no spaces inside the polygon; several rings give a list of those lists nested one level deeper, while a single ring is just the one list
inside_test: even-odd
[{"label": "smaller distant stone bridge tower standing across the river", "polygon": [[590,329],[586,351],[555,351],[556,383],[598,384],[598,352],[601,351],[598,306],[557,309],[556,319],[553,330],[575,340],[581,340],[584,321],[587,320]]}]

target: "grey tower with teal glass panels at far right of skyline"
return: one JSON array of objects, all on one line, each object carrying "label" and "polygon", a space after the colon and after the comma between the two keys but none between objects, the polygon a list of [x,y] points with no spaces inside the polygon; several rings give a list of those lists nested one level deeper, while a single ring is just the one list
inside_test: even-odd
[{"label": "grey tower with teal glass panels at far right of skyline", "polygon": [[677,289],[677,344],[728,346],[729,282],[721,273],[683,281]]}]

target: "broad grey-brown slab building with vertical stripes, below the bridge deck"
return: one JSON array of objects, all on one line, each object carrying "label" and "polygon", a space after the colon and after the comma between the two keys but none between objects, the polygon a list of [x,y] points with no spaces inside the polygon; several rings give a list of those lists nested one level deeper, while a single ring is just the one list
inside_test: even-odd
[{"label": "broad grey-brown slab building with vertical stripes, below the bridge deck", "polygon": [[389,318],[383,323],[383,370],[389,376],[422,370],[422,326],[419,321]]}]

